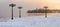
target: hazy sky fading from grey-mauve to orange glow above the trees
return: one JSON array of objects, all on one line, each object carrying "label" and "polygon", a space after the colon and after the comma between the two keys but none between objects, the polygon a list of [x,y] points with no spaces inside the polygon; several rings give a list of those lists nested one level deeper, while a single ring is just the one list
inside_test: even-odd
[{"label": "hazy sky fading from grey-mauve to orange glow above the trees", "polygon": [[27,10],[35,8],[43,8],[48,6],[49,8],[60,9],[60,0],[0,0],[0,17],[11,17],[11,7],[9,4],[14,3],[14,17],[19,16],[18,6],[22,6],[22,16],[26,15]]}]

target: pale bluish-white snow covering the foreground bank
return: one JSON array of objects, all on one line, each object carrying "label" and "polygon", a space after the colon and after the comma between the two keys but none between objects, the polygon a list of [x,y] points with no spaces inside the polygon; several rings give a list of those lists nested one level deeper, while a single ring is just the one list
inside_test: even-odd
[{"label": "pale bluish-white snow covering the foreground bank", "polygon": [[60,27],[60,15],[15,18],[0,22],[0,27]]}]

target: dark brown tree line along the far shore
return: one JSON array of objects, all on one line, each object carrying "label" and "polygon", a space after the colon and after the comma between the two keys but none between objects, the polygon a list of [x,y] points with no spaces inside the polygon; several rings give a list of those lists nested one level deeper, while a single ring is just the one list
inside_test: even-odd
[{"label": "dark brown tree line along the far shore", "polygon": [[35,10],[28,10],[27,13],[60,13],[60,10],[50,10],[50,9],[35,9]]}]

